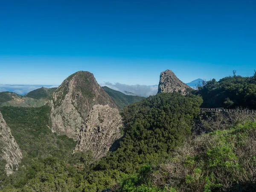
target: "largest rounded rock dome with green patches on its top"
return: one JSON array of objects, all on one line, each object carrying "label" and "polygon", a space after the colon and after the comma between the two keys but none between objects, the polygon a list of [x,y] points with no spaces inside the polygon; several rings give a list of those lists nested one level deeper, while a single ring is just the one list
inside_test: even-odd
[{"label": "largest rounded rock dome with green patches on its top", "polygon": [[112,99],[100,87],[93,74],[79,71],[65,79],[46,102],[51,106],[51,129],[77,139],[80,128],[93,105],[116,108]]}]

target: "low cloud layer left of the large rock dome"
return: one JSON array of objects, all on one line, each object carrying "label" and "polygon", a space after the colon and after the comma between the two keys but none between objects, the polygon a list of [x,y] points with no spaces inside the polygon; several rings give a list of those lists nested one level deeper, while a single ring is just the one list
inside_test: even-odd
[{"label": "low cloud layer left of the large rock dome", "polygon": [[30,91],[41,88],[41,87],[53,88],[53,87],[58,87],[58,85],[0,84],[0,92],[9,91],[9,92],[14,92],[23,96],[26,93],[29,93]]}]

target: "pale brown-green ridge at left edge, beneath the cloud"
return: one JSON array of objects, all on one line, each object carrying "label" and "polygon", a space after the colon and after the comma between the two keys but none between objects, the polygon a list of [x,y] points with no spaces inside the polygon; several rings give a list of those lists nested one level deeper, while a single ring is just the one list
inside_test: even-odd
[{"label": "pale brown-green ridge at left edge, beneath the cloud", "polygon": [[12,92],[0,92],[0,106],[41,107],[46,99],[32,99]]}]

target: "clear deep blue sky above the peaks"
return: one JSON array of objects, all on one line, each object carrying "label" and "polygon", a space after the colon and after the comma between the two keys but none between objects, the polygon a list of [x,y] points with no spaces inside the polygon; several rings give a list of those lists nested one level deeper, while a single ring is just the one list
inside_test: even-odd
[{"label": "clear deep blue sky above the peaks", "polygon": [[1,0],[0,84],[252,76],[255,0]]}]

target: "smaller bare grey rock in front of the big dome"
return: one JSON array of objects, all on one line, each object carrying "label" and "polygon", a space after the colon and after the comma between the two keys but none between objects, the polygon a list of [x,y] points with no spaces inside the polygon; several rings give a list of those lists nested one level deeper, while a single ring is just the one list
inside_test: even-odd
[{"label": "smaller bare grey rock in front of the big dome", "polygon": [[73,153],[92,151],[97,160],[106,156],[111,145],[122,135],[122,117],[119,111],[108,105],[94,105],[87,116]]}]

